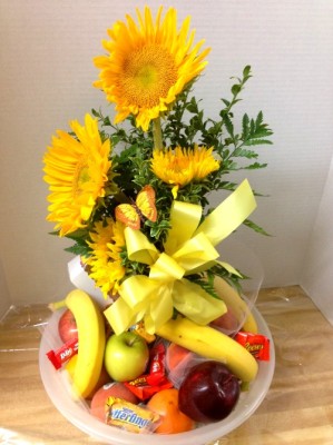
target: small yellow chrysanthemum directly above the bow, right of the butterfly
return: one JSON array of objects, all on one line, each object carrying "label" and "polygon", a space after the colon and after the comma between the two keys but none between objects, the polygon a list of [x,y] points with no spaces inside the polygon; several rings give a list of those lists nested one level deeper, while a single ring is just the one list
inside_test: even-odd
[{"label": "small yellow chrysanthemum directly above the bow, right of the butterfly", "polygon": [[176,197],[179,187],[199,181],[218,169],[219,161],[213,157],[212,151],[213,147],[198,146],[194,149],[156,149],[153,151],[151,170],[164,182],[175,186],[173,194]]}]

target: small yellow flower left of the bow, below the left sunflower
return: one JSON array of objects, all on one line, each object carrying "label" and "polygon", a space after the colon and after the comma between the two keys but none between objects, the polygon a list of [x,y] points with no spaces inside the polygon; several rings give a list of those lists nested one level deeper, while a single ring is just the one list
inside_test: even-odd
[{"label": "small yellow flower left of the bow, below the left sunflower", "polygon": [[88,245],[92,249],[92,255],[82,258],[88,266],[89,276],[105,297],[110,294],[116,295],[126,271],[120,258],[120,251],[125,246],[124,225],[107,218],[106,221],[96,222],[89,236],[91,243]]}]

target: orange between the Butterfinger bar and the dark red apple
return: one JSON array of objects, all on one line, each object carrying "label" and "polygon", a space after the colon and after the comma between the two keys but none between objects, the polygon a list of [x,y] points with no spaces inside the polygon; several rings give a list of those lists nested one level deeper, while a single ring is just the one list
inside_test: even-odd
[{"label": "orange between the Butterfinger bar and the dark red apple", "polygon": [[179,411],[178,389],[163,389],[154,394],[147,407],[161,416],[161,422],[155,433],[175,434],[190,431],[195,422]]}]

